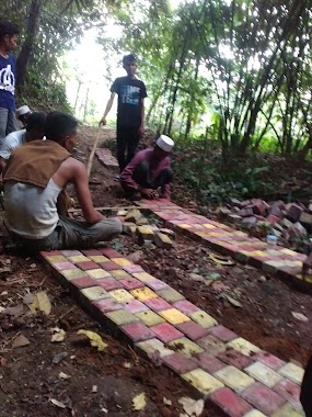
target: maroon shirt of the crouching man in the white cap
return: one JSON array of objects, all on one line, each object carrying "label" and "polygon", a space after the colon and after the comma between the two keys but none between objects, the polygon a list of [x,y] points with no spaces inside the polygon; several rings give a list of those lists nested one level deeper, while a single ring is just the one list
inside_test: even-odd
[{"label": "maroon shirt of the crouching man in the white cap", "polygon": [[[136,183],[132,179],[134,171],[136,167],[141,164],[143,160],[147,160],[148,162],[151,161],[151,156],[153,153],[153,148],[147,148],[143,150],[140,150],[135,158],[127,165],[127,167],[122,172],[120,182],[123,185],[138,190],[139,184]],[[153,167],[150,171],[150,180],[153,181],[159,173],[164,169],[170,168],[170,158],[165,157],[162,160],[159,161],[159,164]],[[170,196],[170,184],[165,184],[163,189],[163,198]]]}]

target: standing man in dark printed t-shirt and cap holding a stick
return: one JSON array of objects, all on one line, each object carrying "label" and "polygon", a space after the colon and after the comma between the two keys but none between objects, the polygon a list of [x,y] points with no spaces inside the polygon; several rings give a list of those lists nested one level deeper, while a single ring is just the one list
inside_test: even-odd
[{"label": "standing man in dark printed t-shirt and cap holding a stick", "polygon": [[120,172],[134,158],[140,137],[143,135],[146,84],[136,77],[137,61],[134,55],[125,55],[123,67],[126,77],[116,78],[111,87],[111,98],[101,124],[106,124],[106,116],[112,109],[115,95],[117,108],[117,160]]}]

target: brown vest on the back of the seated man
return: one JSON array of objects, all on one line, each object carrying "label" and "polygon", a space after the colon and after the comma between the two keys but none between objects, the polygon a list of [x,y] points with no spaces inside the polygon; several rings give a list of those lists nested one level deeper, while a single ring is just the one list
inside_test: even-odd
[{"label": "brown vest on the back of the seated man", "polygon": [[53,140],[33,140],[13,150],[3,170],[3,182],[26,182],[45,189],[70,153]]}]

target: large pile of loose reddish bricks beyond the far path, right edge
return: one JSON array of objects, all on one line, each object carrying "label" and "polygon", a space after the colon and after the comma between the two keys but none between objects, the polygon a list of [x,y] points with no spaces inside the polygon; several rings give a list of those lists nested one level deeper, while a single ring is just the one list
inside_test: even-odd
[{"label": "large pile of loose reddish bricks beyond the far path, right edge", "polygon": [[231,199],[227,206],[218,207],[217,214],[236,226],[263,228],[288,243],[309,240],[312,233],[312,203],[305,207],[302,203],[286,204],[281,200],[267,203],[261,199]]}]

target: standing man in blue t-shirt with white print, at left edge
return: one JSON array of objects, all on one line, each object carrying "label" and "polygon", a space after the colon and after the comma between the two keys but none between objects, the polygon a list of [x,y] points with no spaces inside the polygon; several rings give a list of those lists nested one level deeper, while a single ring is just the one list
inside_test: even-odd
[{"label": "standing man in blue t-shirt with white print, at left edge", "polygon": [[16,61],[11,53],[18,45],[18,26],[0,22],[0,145],[9,133],[18,129],[15,119]]}]

